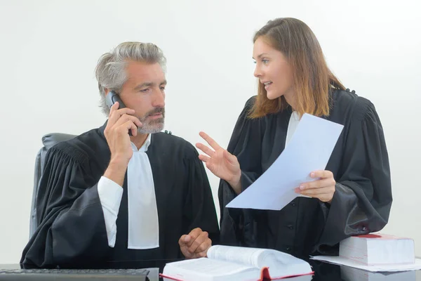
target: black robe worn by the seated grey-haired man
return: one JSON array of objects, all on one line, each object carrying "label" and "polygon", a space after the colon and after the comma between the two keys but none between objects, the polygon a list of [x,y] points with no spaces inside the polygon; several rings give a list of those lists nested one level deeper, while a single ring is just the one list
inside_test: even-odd
[{"label": "black robe worn by the seated grey-haired man", "polygon": [[48,150],[36,214],[39,227],[22,253],[24,267],[145,268],[147,260],[182,259],[181,235],[208,231],[213,244],[219,227],[203,163],[187,141],[152,134],[146,154],[152,167],[159,217],[159,248],[127,249],[127,172],[116,220],[116,242],[108,246],[98,181],[109,163],[105,125]]}]

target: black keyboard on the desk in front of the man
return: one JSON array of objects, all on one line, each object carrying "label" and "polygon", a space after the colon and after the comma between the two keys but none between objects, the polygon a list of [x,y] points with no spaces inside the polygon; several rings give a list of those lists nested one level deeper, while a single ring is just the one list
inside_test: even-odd
[{"label": "black keyboard on the desk in front of the man", "polygon": [[149,280],[147,269],[0,269],[0,280]]}]

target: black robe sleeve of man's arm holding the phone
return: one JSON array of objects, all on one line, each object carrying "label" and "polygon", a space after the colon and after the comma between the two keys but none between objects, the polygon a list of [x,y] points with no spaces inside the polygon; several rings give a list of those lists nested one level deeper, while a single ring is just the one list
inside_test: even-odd
[{"label": "black robe sleeve of man's arm holding the phone", "polygon": [[[88,157],[59,143],[48,150],[39,184],[36,232],[20,263],[28,267],[83,267],[107,253],[107,231]],[[98,179],[96,179],[98,181]]]}]

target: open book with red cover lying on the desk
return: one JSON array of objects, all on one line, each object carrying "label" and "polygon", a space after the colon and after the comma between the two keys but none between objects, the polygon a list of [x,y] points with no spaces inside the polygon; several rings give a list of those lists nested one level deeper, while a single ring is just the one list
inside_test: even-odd
[{"label": "open book with red cover lying on the desk", "polygon": [[208,250],[208,258],[167,263],[161,277],[182,281],[255,281],[313,273],[309,263],[281,251],[215,245]]}]

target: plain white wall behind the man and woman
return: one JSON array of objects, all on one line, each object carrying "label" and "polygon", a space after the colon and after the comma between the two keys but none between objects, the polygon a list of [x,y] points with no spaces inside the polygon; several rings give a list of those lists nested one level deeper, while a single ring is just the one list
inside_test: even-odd
[{"label": "plain white wall behind the man and woman", "polygon": [[105,121],[93,74],[102,53],[128,40],[160,46],[166,129],[192,143],[204,130],[226,146],[255,94],[253,32],[278,17],[307,22],[333,72],[376,105],[394,195],[385,232],[415,238],[421,255],[419,1],[1,0],[0,11],[0,263],[18,263],[28,239],[41,136]]}]

